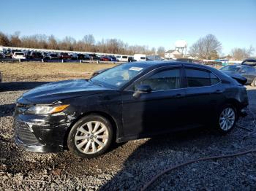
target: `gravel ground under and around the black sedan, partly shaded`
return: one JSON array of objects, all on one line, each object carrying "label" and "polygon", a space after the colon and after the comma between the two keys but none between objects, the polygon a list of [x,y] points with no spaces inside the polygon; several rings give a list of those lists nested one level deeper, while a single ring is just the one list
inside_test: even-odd
[{"label": "gravel ground under and around the black sedan, partly shaded", "polygon": [[[36,154],[15,145],[16,98],[42,82],[11,82],[0,90],[0,190],[139,190],[160,171],[187,160],[255,149],[256,89],[248,87],[251,112],[226,136],[197,129],[118,145],[81,160],[69,152]],[[255,131],[251,131],[255,130]],[[256,155],[193,163],[159,177],[148,190],[256,190]]]}]

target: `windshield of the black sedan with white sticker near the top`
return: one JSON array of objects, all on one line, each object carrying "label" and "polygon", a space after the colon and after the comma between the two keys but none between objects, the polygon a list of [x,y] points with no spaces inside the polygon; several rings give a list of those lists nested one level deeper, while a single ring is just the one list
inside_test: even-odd
[{"label": "windshield of the black sedan with white sticker near the top", "polygon": [[91,82],[118,88],[143,72],[147,67],[146,64],[124,63],[91,78]]}]

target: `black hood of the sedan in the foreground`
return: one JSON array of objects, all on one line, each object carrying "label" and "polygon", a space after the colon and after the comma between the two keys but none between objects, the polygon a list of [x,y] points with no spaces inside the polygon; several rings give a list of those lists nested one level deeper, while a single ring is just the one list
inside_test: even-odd
[{"label": "black hood of the sedan in the foreground", "polygon": [[[94,85],[86,79],[73,79],[51,82],[24,93],[22,98],[33,104],[53,104],[67,98],[93,95],[110,90],[107,87]],[[18,100],[19,102],[19,100]]]}]

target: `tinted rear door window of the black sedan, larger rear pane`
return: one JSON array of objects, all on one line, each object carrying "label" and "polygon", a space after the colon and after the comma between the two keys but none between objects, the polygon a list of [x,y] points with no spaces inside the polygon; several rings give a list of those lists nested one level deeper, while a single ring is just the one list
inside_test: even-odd
[{"label": "tinted rear door window of the black sedan, larger rear pane", "polygon": [[202,87],[211,85],[210,73],[197,69],[186,69],[188,87]]}]

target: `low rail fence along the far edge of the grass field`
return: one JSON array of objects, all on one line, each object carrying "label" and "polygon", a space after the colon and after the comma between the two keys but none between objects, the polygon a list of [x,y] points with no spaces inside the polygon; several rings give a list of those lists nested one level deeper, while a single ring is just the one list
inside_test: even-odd
[{"label": "low rail fence along the far edge of the grass field", "polygon": [[41,62],[41,63],[124,63],[115,61],[84,61],[84,60],[45,60],[45,59],[0,59],[0,63],[23,63],[23,62]]}]

